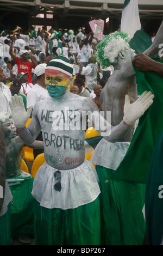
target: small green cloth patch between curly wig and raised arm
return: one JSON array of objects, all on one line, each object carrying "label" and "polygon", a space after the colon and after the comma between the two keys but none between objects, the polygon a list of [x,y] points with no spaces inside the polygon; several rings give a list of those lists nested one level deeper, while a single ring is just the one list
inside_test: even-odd
[{"label": "small green cloth patch between curly wig and raised arm", "polygon": [[130,48],[134,49],[136,54],[145,52],[151,45],[150,36],[141,28],[136,31],[134,37],[130,40]]}]

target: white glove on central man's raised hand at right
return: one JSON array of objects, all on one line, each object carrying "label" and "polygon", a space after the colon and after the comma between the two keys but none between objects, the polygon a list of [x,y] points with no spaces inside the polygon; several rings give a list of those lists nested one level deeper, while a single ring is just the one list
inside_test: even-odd
[{"label": "white glove on central man's raised hand at right", "polygon": [[143,113],[152,105],[154,95],[152,92],[143,92],[142,95],[134,103],[130,104],[129,95],[125,96],[124,103],[124,117],[123,121],[128,125],[133,125],[137,119],[139,119]]}]

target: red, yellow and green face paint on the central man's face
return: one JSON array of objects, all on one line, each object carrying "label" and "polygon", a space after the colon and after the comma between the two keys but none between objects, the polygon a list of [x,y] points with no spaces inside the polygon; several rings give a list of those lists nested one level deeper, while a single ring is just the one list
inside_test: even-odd
[{"label": "red, yellow and green face paint on the central man's face", "polygon": [[46,70],[45,84],[51,97],[58,97],[64,94],[68,87],[70,77],[62,72]]}]

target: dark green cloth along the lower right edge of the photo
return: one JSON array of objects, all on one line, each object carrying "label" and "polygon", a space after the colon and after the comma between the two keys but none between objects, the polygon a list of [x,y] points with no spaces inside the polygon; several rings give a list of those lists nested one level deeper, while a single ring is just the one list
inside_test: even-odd
[{"label": "dark green cloth along the lower right edge of the photo", "polygon": [[155,145],[146,186],[146,227],[148,245],[160,245],[163,235],[163,131]]}]

